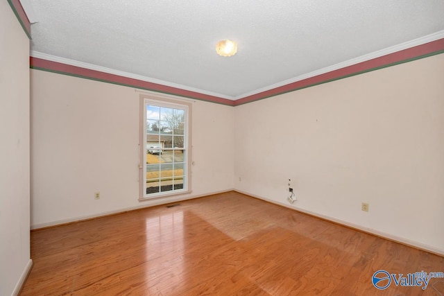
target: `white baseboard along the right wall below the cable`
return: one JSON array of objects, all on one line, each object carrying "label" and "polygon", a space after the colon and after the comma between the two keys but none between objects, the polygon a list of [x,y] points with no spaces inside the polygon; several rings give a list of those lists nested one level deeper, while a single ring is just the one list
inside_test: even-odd
[{"label": "white baseboard along the right wall below the cable", "polygon": [[250,195],[253,198],[258,198],[259,200],[265,200],[266,202],[271,202],[273,204],[278,204],[278,205],[280,205],[282,207],[287,207],[287,208],[293,209],[295,211],[300,211],[301,213],[308,214],[310,216],[315,216],[315,217],[318,217],[318,218],[321,218],[321,219],[324,219],[324,220],[328,220],[328,221],[331,221],[331,222],[334,222],[334,223],[337,223],[337,224],[340,224],[340,225],[344,225],[346,227],[350,227],[350,228],[353,228],[353,229],[361,230],[362,232],[367,232],[369,234],[374,234],[375,236],[386,238],[389,241],[395,241],[396,243],[402,243],[403,245],[409,245],[411,247],[415,247],[415,248],[420,249],[420,250],[425,250],[427,252],[431,252],[431,253],[434,253],[434,254],[438,254],[440,256],[444,256],[444,250],[440,249],[438,247],[432,247],[431,245],[426,245],[424,243],[419,243],[417,241],[411,241],[411,240],[409,240],[407,238],[402,238],[400,236],[395,236],[393,234],[387,234],[386,232],[379,232],[376,229],[370,229],[370,228],[364,227],[362,225],[357,225],[357,224],[354,224],[354,223],[349,223],[349,222],[346,222],[346,221],[343,221],[343,220],[340,220],[340,219],[332,218],[330,216],[325,216],[325,215],[322,215],[322,214],[318,214],[318,213],[315,213],[313,211],[307,211],[305,209],[298,209],[298,208],[292,207],[290,204],[285,204],[284,202],[277,202],[275,200],[270,200],[268,198],[264,198],[262,196],[251,194],[251,193],[248,193],[248,192],[244,192],[244,191],[241,191],[241,190],[238,190],[238,189],[234,189],[234,191],[242,193],[242,194],[245,194],[245,195]]}]

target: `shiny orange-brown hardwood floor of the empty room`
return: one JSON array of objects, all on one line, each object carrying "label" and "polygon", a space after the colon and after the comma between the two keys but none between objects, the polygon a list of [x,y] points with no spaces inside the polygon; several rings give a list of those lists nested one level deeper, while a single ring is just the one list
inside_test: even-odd
[{"label": "shiny orange-brown hardwood floor of the empty room", "polygon": [[[444,258],[222,193],[31,233],[21,295],[440,295],[444,279],[377,290],[373,273],[444,271]],[[441,281],[443,280],[443,281]]]}]

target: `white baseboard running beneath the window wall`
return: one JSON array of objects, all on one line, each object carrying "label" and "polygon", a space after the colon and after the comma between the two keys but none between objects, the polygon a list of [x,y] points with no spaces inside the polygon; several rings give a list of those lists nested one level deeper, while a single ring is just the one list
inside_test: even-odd
[{"label": "white baseboard running beneath the window wall", "polygon": [[[126,208],[122,208],[122,209],[116,209],[114,211],[103,211],[103,212],[92,214],[92,215],[77,216],[74,218],[56,220],[56,221],[51,221],[51,222],[47,222],[47,223],[34,224],[34,225],[31,225],[31,230],[45,228],[45,227],[52,227],[52,226],[57,226],[57,225],[62,225],[62,224],[67,224],[67,223],[73,223],[73,222],[88,220],[88,219],[92,219],[92,218],[99,218],[101,216],[119,214],[119,213],[123,213],[126,211],[133,211],[135,209],[143,209],[146,207],[155,207],[155,206],[162,205],[162,204],[170,204],[171,202],[180,202],[182,200],[192,200],[194,198],[202,198],[203,196],[225,193],[225,192],[230,192],[230,191],[234,191],[234,189],[227,189],[227,190],[223,190],[223,191],[216,191],[216,192],[210,192],[210,193],[205,193],[205,194],[200,194],[200,195],[191,195],[191,196],[190,195],[178,195],[174,198],[157,199],[157,200],[152,200],[151,202],[144,201],[144,202],[142,202],[142,204],[137,205],[135,207],[126,207]],[[147,204],[146,202],[149,202],[149,203]]]}]

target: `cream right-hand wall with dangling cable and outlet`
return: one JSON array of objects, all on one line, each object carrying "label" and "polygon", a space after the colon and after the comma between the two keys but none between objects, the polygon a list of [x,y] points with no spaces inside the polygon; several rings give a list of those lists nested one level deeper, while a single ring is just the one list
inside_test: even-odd
[{"label": "cream right-hand wall with dangling cable and outlet", "polygon": [[291,207],[444,254],[444,54],[241,105],[235,119],[237,190],[289,205],[290,178]]}]

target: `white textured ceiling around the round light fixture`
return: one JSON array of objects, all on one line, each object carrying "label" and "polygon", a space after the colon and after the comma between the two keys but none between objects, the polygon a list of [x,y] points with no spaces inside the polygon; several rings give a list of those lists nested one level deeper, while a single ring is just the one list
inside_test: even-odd
[{"label": "white textured ceiling around the round light fixture", "polygon": [[[443,0],[22,0],[31,55],[236,99],[444,31]],[[238,52],[216,54],[232,39]]]}]

